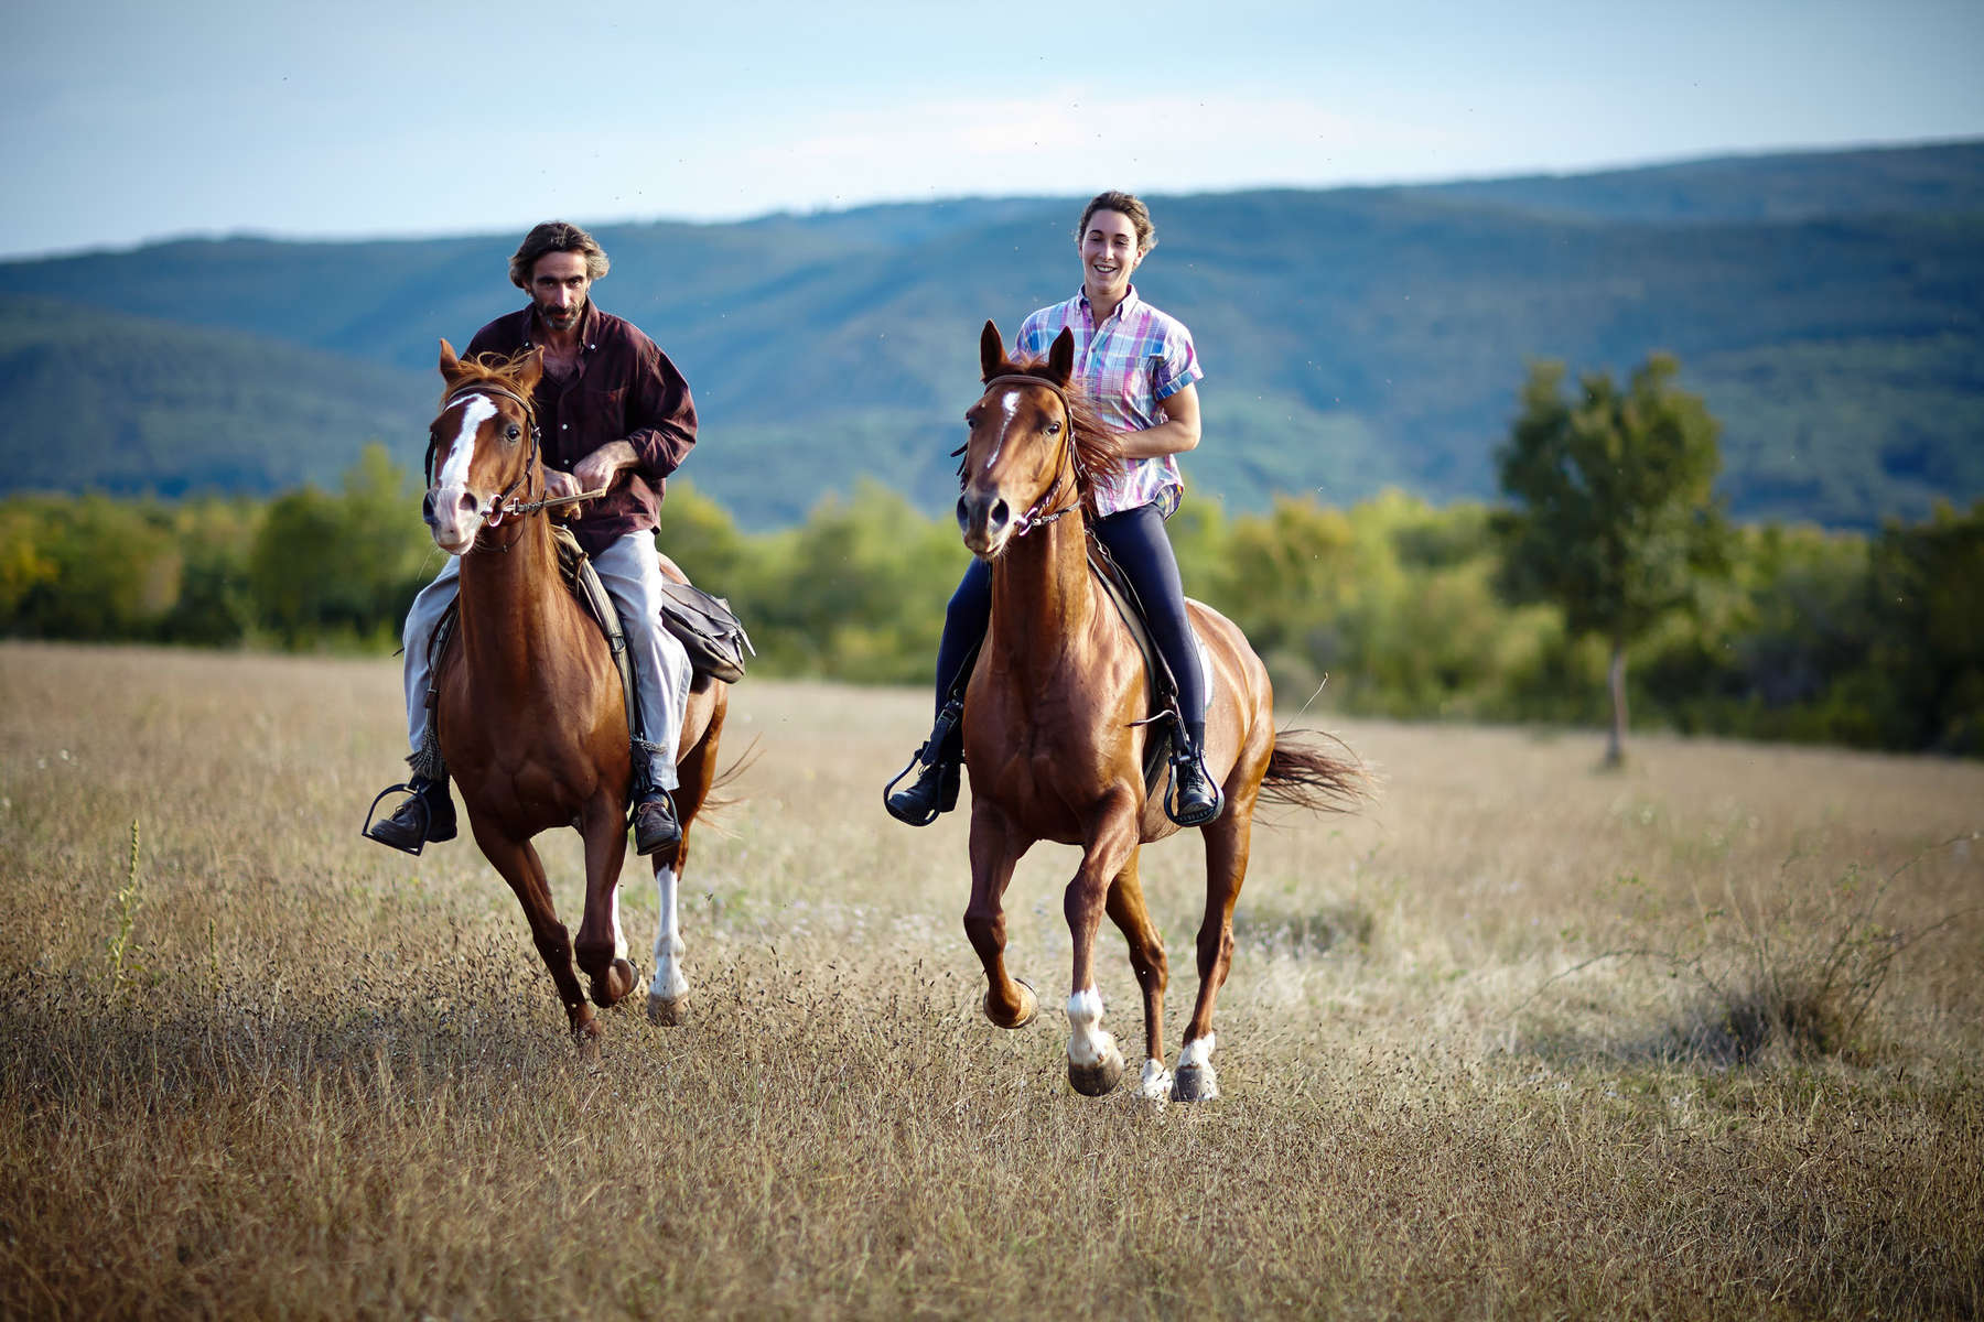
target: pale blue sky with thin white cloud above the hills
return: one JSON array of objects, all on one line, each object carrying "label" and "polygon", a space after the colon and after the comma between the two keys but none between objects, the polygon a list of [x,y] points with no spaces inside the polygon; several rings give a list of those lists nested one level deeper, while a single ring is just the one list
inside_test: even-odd
[{"label": "pale blue sky with thin white cloud above the hills", "polygon": [[18,6],[0,256],[1984,137],[1978,0]]}]

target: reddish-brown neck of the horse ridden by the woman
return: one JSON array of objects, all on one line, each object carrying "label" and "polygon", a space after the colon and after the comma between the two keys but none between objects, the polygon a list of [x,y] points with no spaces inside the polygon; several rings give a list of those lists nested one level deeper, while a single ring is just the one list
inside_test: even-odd
[{"label": "reddish-brown neck of the horse ridden by the woman", "polygon": [[988,646],[1022,674],[1069,674],[1067,654],[1089,644],[1095,587],[1087,523],[1069,509],[1014,541],[992,565]]}]

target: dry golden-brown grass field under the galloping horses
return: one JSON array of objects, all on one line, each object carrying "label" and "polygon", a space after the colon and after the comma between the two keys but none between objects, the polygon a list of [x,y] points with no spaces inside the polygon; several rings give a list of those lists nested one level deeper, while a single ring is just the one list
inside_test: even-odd
[{"label": "dry golden-brown grass field under the galloping horses", "polygon": [[[1071,850],[980,1017],[921,694],[736,690],[688,1021],[585,1060],[470,842],[357,834],[397,674],[0,646],[0,1316],[1984,1310],[1980,765],[1345,723],[1381,797],[1256,830],[1226,1096],[1153,1108],[1065,1082]],[[1145,886],[1175,1050],[1194,844]]]}]

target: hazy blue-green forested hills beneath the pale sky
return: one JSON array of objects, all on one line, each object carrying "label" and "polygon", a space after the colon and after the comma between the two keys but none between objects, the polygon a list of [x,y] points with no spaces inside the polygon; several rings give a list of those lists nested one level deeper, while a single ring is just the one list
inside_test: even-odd
[{"label": "hazy blue-green forested hills beneath the pale sky", "polygon": [[[1206,369],[1186,472],[1236,509],[1490,496],[1528,359],[1653,349],[1722,420],[1738,515],[1865,527],[1984,496],[1984,143],[1151,202],[1137,285]],[[1073,293],[1079,204],[599,226],[595,297],[694,385],[686,474],[744,523],[861,476],[934,509],[978,327]],[[266,492],[369,438],[417,464],[434,341],[520,301],[516,240],[0,264],[0,492]]]}]

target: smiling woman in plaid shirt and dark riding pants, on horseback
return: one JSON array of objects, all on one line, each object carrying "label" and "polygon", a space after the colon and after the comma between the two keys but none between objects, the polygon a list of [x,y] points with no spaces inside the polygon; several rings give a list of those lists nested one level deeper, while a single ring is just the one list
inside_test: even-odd
[{"label": "smiling woman in plaid shirt and dark riding pants, on horseback", "polygon": [[[1184,614],[1178,561],[1165,519],[1178,507],[1184,480],[1177,456],[1198,444],[1198,355],[1177,317],[1137,297],[1129,277],[1157,246],[1149,208],[1127,192],[1101,192],[1081,212],[1081,291],[1042,307],[1020,325],[1018,357],[1046,357],[1073,333],[1071,388],[1087,394],[1103,426],[1117,434],[1123,462],[1093,474],[1095,535],[1129,575],[1153,640],[1178,686],[1182,729],[1171,757],[1173,793],[1165,811],[1180,826],[1220,815],[1220,787],[1206,775],[1206,680]],[[917,777],[887,797],[889,815],[927,826],[956,807],[962,743],[962,686],[992,614],[992,571],[972,559],[944,610],[936,646],[936,725],[917,749]],[[901,777],[899,777],[901,779]]]}]

